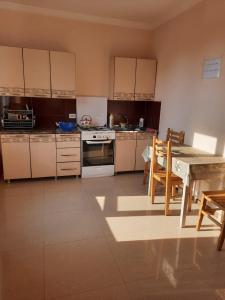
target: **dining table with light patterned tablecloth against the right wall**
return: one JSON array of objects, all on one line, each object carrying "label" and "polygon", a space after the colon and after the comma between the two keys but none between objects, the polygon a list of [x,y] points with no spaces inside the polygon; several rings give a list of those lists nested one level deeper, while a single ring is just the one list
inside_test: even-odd
[{"label": "dining table with light patterned tablecloth against the right wall", "polygon": [[[148,147],[148,158],[151,160],[153,148]],[[158,163],[165,167],[166,158],[160,157]],[[195,180],[213,179],[218,176],[222,180],[225,179],[225,158],[187,145],[172,146],[172,172],[183,180],[180,227],[185,227],[190,187]],[[148,195],[150,195],[150,178],[151,171]]]}]

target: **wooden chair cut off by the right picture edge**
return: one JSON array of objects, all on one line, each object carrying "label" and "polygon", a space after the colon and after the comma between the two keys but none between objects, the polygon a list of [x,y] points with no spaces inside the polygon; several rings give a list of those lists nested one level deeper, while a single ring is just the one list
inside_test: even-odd
[{"label": "wooden chair cut off by the right picture edge", "polygon": [[[210,203],[212,206],[209,206]],[[221,223],[213,217],[217,210],[223,211]],[[220,251],[223,247],[223,242],[225,239],[225,190],[202,193],[201,208],[199,210],[198,222],[196,226],[197,230],[200,230],[204,216],[207,216],[212,222],[221,228],[221,233],[217,243],[217,250]]]}]

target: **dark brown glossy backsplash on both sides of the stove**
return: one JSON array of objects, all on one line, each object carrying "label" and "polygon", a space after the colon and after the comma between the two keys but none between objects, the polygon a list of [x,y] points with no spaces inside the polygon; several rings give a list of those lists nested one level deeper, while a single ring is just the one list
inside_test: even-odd
[{"label": "dark brown glossy backsplash on both sides of the stove", "polygon": [[[9,108],[26,109],[33,107],[36,128],[55,128],[55,122],[68,121],[69,113],[76,113],[76,100],[9,97]],[[161,102],[158,101],[115,101],[108,100],[108,116],[114,114],[114,123],[128,119],[129,124],[137,125],[144,118],[145,127],[159,129]],[[124,118],[125,117],[125,118]]]}]

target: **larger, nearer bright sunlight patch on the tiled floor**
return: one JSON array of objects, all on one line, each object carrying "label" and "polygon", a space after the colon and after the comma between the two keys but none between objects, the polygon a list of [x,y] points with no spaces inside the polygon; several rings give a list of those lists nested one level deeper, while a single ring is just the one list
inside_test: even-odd
[{"label": "larger, nearer bright sunlight patch on the tiled floor", "polygon": [[[179,228],[179,217],[164,215],[106,217],[106,222],[117,242],[173,238],[217,237],[219,230],[207,227],[196,231],[196,216],[188,217],[187,228]],[[205,224],[205,223],[204,223]]]}]

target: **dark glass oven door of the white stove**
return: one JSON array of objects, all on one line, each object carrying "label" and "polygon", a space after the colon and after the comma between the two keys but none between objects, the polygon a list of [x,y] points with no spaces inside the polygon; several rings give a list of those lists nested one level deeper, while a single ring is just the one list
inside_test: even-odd
[{"label": "dark glass oven door of the white stove", "polygon": [[83,166],[114,165],[114,141],[83,141]]}]

